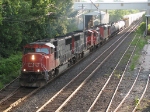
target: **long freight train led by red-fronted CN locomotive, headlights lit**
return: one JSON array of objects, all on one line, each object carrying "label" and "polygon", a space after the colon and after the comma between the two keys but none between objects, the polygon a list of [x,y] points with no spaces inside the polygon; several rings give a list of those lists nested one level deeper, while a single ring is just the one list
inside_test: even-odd
[{"label": "long freight train led by red-fronted CN locomotive, headlights lit", "polygon": [[[144,14],[144,13],[143,13]],[[142,16],[134,16],[134,20]],[[61,74],[68,67],[98,48],[123,30],[131,21],[97,25],[84,31],[74,31],[53,39],[43,39],[24,46],[20,85],[40,87]],[[134,22],[134,21],[132,21]]]}]

